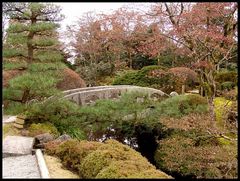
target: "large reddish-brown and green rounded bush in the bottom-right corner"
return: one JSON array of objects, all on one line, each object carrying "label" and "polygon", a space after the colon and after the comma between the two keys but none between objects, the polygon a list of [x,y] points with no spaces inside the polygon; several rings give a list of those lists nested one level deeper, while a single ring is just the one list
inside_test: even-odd
[{"label": "large reddish-brown and green rounded bush in the bottom-right corner", "polygon": [[237,149],[219,145],[206,133],[173,134],[159,142],[155,152],[158,168],[190,178],[236,178]]}]

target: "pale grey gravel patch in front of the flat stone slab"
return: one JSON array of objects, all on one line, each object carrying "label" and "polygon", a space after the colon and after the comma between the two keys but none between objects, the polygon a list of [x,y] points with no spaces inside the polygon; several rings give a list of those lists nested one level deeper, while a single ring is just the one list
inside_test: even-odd
[{"label": "pale grey gravel patch in front of the flat stone slab", "polygon": [[41,178],[35,155],[3,158],[3,178]]}]

